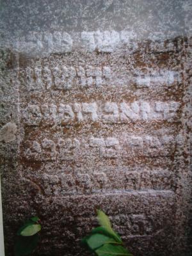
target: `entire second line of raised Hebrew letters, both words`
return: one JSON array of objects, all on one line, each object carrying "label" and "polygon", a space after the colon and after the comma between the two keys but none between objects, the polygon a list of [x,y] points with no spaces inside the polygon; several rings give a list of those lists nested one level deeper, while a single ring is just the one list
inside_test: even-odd
[{"label": "entire second line of raised Hebrew letters, both words", "polygon": [[[73,88],[89,88],[108,86],[115,83],[115,86],[121,86],[122,78],[116,76],[116,71],[111,70],[109,66],[93,67],[73,67],[62,65],[61,63],[52,65],[41,65],[35,63],[34,67],[27,67],[20,70],[20,81],[27,89],[40,90],[71,90]],[[126,75],[126,73],[125,73]],[[129,81],[136,84],[137,88],[157,88],[158,86],[169,87],[175,83],[180,83],[181,77],[179,72],[173,70],[148,70],[147,74],[143,74],[141,70],[134,71],[134,76],[129,76]],[[127,82],[126,86],[130,83]]]}]

